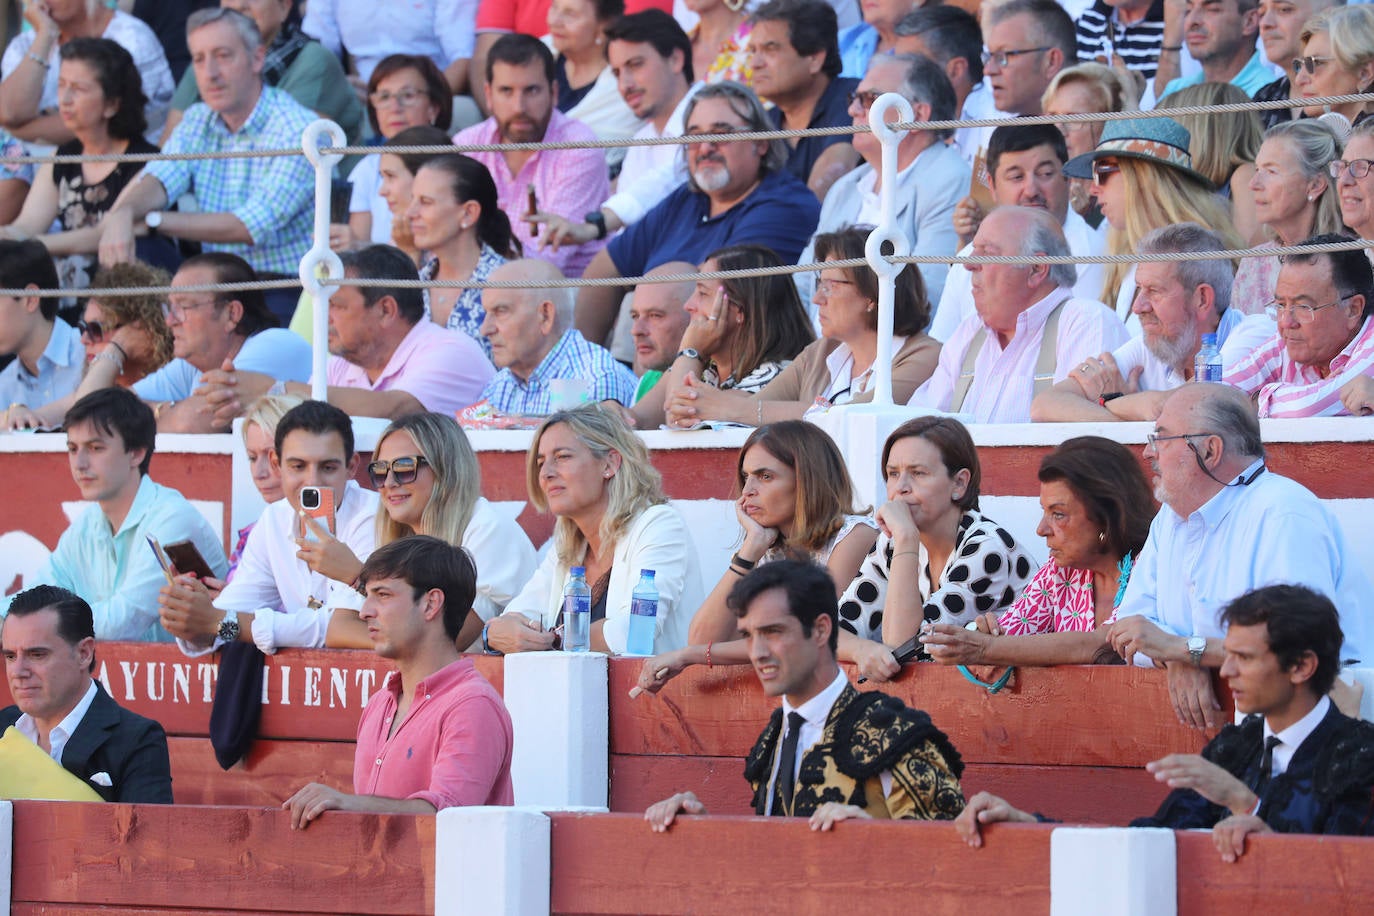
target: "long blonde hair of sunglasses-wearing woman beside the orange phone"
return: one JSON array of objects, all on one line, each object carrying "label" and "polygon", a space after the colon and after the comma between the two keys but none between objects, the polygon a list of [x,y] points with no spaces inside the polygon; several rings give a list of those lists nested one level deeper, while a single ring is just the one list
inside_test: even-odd
[{"label": "long blonde hair of sunglasses-wearing woman beside the orange phone", "polygon": [[[444,413],[408,413],[382,430],[374,455],[393,433],[408,433],[434,474],[434,489],[420,512],[425,534],[462,547],[473,508],[482,496],[482,470],[463,428]],[[392,519],[386,505],[376,507],[378,547],[415,533],[409,525]]]}]

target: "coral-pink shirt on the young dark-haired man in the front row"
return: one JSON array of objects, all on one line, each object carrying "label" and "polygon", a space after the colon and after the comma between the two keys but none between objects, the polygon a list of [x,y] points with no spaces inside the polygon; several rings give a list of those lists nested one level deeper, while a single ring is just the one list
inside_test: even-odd
[{"label": "coral-pink shirt on the young dark-haired man in the front row", "polygon": [[393,673],[363,710],[354,792],[423,798],[436,809],[515,803],[511,717],[470,659],[416,684],[405,720],[387,737],[400,696],[401,676]]}]

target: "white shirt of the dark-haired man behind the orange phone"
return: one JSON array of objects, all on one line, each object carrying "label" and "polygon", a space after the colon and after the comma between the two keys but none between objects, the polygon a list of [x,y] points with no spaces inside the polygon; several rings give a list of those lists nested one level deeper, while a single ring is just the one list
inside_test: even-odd
[{"label": "white shirt of the dark-haired man behind the orange phone", "polygon": [[[344,488],[344,497],[334,512],[335,537],[353,555],[365,560],[376,542],[378,496],[354,481]],[[223,611],[253,614],[253,641],[271,655],[284,645],[324,645],[324,633],[337,607],[357,610],[363,596],[349,582],[313,573],[295,558],[300,522],[286,500],[265,509],[249,533],[234,580],[224,586],[214,606]],[[311,600],[320,607],[311,607]],[[213,651],[177,640],[187,655]]]}]

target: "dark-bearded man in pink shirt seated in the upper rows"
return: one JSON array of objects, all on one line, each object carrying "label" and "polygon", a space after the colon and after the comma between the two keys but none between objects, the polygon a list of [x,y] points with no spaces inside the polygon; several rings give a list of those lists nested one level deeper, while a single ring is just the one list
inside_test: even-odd
[{"label": "dark-bearded man in pink shirt seated in the upper rows", "polygon": [[[591,128],[554,107],[558,99],[554,54],[539,38],[506,34],[486,58],[486,108],[492,117],[459,130],[458,146],[480,143],[592,143]],[[592,238],[576,244],[539,244],[533,210],[565,220],[581,220],[610,196],[602,150],[507,150],[469,152],[496,181],[496,199],[510,217],[526,254],[554,264],[563,276],[581,276],[588,261],[606,244]],[[534,199],[530,201],[533,188]]]}]

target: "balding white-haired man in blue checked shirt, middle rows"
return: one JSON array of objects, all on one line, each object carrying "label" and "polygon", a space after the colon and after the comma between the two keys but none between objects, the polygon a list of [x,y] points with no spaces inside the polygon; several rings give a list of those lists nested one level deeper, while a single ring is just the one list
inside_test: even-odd
[{"label": "balding white-haired man in blue checked shirt, middle rows", "polygon": [[500,413],[544,415],[552,409],[552,382],[581,379],[592,401],[635,400],[639,380],[610,350],[588,342],[573,328],[573,290],[540,287],[562,280],[547,261],[523,258],[492,272],[491,282],[518,280],[526,288],[492,287],[482,297],[482,336],[492,345],[499,369],[482,400]]}]

